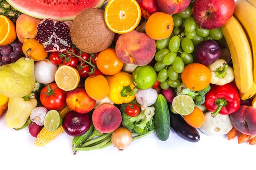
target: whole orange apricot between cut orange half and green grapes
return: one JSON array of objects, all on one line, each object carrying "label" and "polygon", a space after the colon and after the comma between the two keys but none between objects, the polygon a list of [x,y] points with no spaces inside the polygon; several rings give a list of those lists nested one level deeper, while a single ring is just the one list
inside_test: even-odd
[{"label": "whole orange apricot between cut orange half and green grapes", "polygon": [[172,34],[173,18],[164,12],[152,14],[146,23],[145,31],[148,37],[154,40],[162,40]]}]

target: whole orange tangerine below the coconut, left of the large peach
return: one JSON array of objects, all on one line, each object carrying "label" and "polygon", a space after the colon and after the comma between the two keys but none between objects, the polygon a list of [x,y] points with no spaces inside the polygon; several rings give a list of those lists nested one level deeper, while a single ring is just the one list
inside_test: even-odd
[{"label": "whole orange tangerine below the coconut, left of the large peach", "polygon": [[96,65],[103,74],[112,76],[122,70],[124,63],[118,59],[115,49],[107,48],[99,53]]}]

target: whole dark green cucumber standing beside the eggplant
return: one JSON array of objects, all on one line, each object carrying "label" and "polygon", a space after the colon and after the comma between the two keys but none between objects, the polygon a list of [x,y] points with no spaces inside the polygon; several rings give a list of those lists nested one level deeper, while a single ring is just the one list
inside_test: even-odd
[{"label": "whole dark green cucumber standing beside the eggplant", "polygon": [[167,101],[162,94],[158,94],[154,108],[157,138],[166,141],[170,135],[170,114]]}]

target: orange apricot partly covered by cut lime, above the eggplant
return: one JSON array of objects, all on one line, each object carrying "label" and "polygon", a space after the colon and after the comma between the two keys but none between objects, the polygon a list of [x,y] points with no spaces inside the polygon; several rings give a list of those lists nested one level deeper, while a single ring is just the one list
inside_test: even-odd
[{"label": "orange apricot partly covered by cut lime, above the eggplant", "polygon": [[197,107],[189,115],[183,116],[184,120],[192,127],[200,128],[204,124],[204,113]]}]

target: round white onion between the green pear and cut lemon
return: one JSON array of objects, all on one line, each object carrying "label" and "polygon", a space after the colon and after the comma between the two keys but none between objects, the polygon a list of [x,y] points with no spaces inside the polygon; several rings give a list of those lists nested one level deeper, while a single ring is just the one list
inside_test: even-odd
[{"label": "round white onion between the green pear and cut lemon", "polygon": [[52,64],[49,59],[35,63],[35,80],[43,84],[49,84],[55,80],[57,65]]}]

